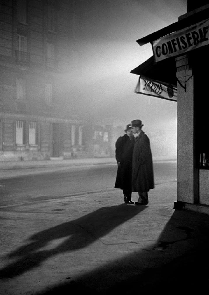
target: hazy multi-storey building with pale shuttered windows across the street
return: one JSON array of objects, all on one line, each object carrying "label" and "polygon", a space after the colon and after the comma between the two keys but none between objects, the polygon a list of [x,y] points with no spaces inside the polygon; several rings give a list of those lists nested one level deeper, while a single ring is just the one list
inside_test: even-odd
[{"label": "hazy multi-storey building with pale shuttered windows across the street", "polygon": [[64,105],[70,11],[67,0],[1,1],[0,160],[94,156],[94,127]]}]

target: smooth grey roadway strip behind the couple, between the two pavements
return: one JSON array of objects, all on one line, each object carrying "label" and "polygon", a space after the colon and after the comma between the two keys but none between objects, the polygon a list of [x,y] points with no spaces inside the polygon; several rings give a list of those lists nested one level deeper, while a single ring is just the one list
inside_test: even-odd
[{"label": "smooth grey roadway strip behind the couple, between the two pavements", "polygon": [[[114,190],[116,164],[60,167],[50,172],[1,179],[0,207]],[[154,162],[155,183],[176,180],[176,161]],[[118,190],[120,191],[120,190]]]}]

